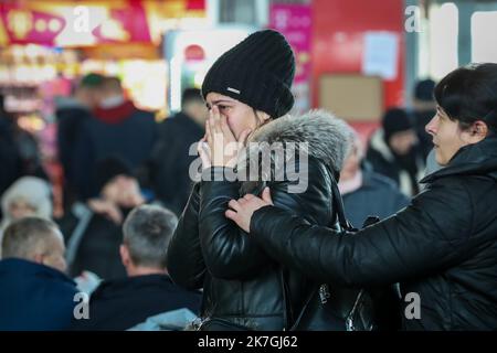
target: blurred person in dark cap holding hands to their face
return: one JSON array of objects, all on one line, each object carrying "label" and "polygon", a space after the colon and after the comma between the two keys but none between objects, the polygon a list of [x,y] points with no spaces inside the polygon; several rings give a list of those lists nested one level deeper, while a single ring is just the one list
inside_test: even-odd
[{"label": "blurred person in dark cap holding hands to their face", "polygon": [[84,270],[104,279],[126,276],[119,257],[121,224],[127,214],[147,201],[130,165],[112,156],[95,170],[98,197],[75,203],[60,221],[67,240],[67,266],[72,276]]}]

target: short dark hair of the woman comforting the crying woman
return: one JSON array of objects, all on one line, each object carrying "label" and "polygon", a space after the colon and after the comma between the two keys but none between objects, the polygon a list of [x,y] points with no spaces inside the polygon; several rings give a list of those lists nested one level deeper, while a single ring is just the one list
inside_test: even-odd
[{"label": "short dark hair of the woman comforting the crying woman", "polygon": [[456,68],[435,86],[435,100],[463,130],[483,120],[497,131],[497,64],[470,64]]}]

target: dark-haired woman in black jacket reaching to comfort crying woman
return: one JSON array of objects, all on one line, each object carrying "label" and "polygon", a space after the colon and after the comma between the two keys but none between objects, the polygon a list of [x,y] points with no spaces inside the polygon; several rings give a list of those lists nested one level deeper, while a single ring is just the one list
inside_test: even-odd
[{"label": "dark-haired woman in black jacket reaching to comfort crying woman", "polygon": [[435,99],[426,131],[444,168],[395,215],[339,236],[253,196],[233,201],[230,218],[266,254],[318,280],[400,282],[404,330],[495,331],[497,64],[451,72]]}]

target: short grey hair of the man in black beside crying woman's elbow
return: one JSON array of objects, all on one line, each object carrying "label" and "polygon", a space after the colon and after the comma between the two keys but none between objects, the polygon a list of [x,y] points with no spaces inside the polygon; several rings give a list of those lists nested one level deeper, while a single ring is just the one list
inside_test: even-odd
[{"label": "short grey hair of the man in black beside crying woman's elbow", "polygon": [[166,268],[167,249],[178,217],[157,205],[133,210],[123,225],[124,244],[136,266]]}]

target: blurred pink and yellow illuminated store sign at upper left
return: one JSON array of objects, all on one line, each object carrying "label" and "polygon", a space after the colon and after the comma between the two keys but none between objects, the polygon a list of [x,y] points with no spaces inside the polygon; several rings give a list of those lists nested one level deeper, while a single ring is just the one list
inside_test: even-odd
[{"label": "blurred pink and yellow illuminated store sign at upper left", "polygon": [[[148,11],[148,3],[137,0],[0,3],[0,44],[87,46],[150,42],[148,18],[154,14]],[[202,0],[168,3],[176,4],[179,15],[205,7]]]}]

